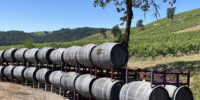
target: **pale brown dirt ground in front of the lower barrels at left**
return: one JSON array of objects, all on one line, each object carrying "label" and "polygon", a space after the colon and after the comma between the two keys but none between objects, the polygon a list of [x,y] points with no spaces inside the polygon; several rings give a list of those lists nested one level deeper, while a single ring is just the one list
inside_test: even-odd
[{"label": "pale brown dirt ground in front of the lower barrels at left", "polygon": [[[56,93],[45,92],[27,86],[0,82],[0,100],[64,100]],[[65,99],[67,100],[67,99]]]}]

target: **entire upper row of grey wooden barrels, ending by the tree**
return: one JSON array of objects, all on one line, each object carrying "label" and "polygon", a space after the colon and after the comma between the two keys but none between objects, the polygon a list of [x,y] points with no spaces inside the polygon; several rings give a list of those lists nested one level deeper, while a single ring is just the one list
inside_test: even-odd
[{"label": "entire upper row of grey wooden barrels, ending by the tree", "polygon": [[123,67],[128,62],[128,51],[122,45],[113,42],[107,42],[101,45],[76,45],[58,49],[52,47],[44,47],[41,49],[21,48],[18,50],[11,48],[6,51],[0,50],[0,61],[28,61],[31,63],[59,65],[66,63],[70,66],[97,66],[102,69],[111,69],[113,67]]}]

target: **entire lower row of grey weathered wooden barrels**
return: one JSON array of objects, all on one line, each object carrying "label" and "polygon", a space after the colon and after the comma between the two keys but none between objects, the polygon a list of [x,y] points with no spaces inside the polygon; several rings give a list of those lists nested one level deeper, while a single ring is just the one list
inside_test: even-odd
[{"label": "entire lower row of grey weathered wooden barrels", "polygon": [[0,77],[52,84],[70,92],[77,92],[85,98],[93,97],[96,100],[193,100],[192,92],[186,86],[152,87],[146,81],[125,84],[121,80],[107,77],[96,79],[90,74],[79,75],[76,72],[51,71],[47,68],[0,66]]}]

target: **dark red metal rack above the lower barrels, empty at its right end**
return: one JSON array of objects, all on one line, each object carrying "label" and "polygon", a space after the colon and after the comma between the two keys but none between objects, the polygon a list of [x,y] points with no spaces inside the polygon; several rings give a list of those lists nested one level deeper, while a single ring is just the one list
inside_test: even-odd
[{"label": "dark red metal rack above the lower barrels, empty at its right end", "polygon": [[[78,65],[73,67],[79,74],[90,73],[96,78],[98,77],[110,77],[113,80],[123,80],[126,83],[132,81],[148,81],[151,82],[151,86],[157,85],[174,85],[177,87],[180,86],[190,86],[190,71],[187,72],[167,72],[166,70],[153,70],[153,68],[142,69],[134,68],[130,69],[128,67],[124,68],[112,68],[111,70],[101,69],[95,66],[90,68],[83,67]],[[180,78],[185,78],[185,81],[180,81]],[[77,94],[76,100],[95,100],[92,97],[86,99],[81,95]]]}]

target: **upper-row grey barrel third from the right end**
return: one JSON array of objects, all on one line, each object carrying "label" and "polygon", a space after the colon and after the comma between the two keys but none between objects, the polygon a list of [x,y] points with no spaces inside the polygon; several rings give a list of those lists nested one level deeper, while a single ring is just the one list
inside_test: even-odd
[{"label": "upper-row grey barrel third from the right end", "polygon": [[63,53],[63,60],[67,64],[71,66],[76,66],[78,64],[76,60],[76,52],[77,50],[81,48],[80,46],[71,46],[69,48],[66,48],[66,50]]}]

